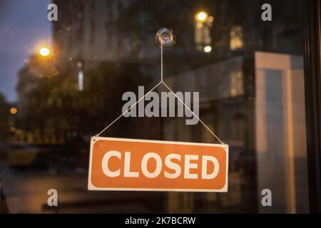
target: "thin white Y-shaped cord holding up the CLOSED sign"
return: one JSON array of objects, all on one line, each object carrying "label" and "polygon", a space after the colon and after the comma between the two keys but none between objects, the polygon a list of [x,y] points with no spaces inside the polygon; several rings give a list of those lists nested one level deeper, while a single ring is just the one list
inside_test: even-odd
[{"label": "thin white Y-shaped cord holding up the CLOSED sign", "polygon": [[123,115],[125,115],[129,110],[131,110],[131,108],[135,107],[135,105],[137,105],[141,100],[143,100],[143,98],[145,98],[146,95],[148,95],[149,93],[151,93],[153,90],[155,90],[155,89],[156,89],[159,85],[161,85],[161,84],[163,84],[166,88],[168,88],[168,90],[170,90],[170,93],[173,93],[173,94],[175,95],[175,98],[177,98],[177,99],[180,101],[180,103],[183,103],[183,105],[185,106],[185,108],[187,108],[187,109],[190,111],[190,113],[192,113],[192,114],[195,116],[195,118],[197,118],[198,121],[200,121],[200,123],[202,123],[202,125],[203,125],[221,144],[225,145],[225,143],[224,143],[222,140],[220,140],[220,138],[218,138],[218,136],[216,136],[215,133],[213,133],[213,131],[210,130],[210,128],[208,128],[208,126],[205,125],[205,123],[204,123],[202,120],[200,120],[200,118],[198,118],[198,115],[196,115],[192,110],[190,110],[190,108],[188,107],[188,105],[186,105],[186,104],[184,103],[184,101],[181,100],[181,99],[178,97],[178,95],[176,95],[176,94],[173,92],[173,90],[171,90],[171,89],[169,88],[169,86],[167,86],[166,83],[163,82],[163,44],[162,44],[162,43],[161,43],[161,81],[160,81],[156,86],[154,86],[151,90],[149,90],[148,93],[146,93],[145,95],[143,95],[143,97],[141,97],[139,100],[137,100],[136,103],[134,103],[133,105],[131,105],[131,107],[129,107],[125,112],[121,113],[121,115],[119,115],[118,118],[116,118],[115,120],[113,120],[113,122],[111,122],[106,128],[104,128],[104,129],[103,129],[100,133],[98,133],[96,136],[101,135],[101,133],[103,133],[105,130],[107,130],[108,128],[110,128],[111,125],[113,125],[114,123],[116,123],[117,120],[119,120]]}]

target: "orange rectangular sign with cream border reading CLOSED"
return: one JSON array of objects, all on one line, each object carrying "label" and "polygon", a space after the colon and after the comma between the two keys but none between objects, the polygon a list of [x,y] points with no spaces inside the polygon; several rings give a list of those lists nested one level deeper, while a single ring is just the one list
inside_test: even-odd
[{"label": "orange rectangular sign with cream border reading CLOSED", "polygon": [[88,190],[228,191],[228,145],[91,138]]}]

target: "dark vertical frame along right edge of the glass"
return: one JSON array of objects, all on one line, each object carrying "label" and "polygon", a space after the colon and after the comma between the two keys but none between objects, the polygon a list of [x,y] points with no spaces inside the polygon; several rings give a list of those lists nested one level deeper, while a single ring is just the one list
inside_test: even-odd
[{"label": "dark vertical frame along right edge of the glass", "polygon": [[305,112],[310,213],[321,213],[321,0],[304,1]]}]

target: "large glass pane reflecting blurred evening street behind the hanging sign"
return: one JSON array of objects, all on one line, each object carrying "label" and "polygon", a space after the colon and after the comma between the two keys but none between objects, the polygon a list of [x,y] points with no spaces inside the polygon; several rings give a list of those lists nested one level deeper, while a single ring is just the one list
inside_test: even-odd
[{"label": "large glass pane reflecting blurred evening street behind the hanging sign", "polygon": [[[303,1],[269,2],[272,21],[258,0],[1,1],[0,212],[309,212]],[[164,81],[199,92],[200,119],[230,147],[228,192],[88,191],[90,138],[123,93],[159,81],[163,27],[176,36]],[[180,117],[121,118],[102,136],[218,142]]]}]

